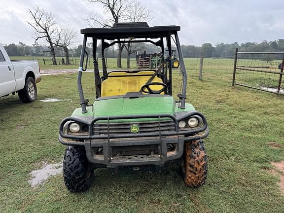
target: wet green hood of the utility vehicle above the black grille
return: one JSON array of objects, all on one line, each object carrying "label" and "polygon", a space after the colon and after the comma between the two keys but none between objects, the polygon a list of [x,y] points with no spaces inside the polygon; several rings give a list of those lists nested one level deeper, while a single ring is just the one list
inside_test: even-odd
[{"label": "wet green hood of the utility vehicle above the black grille", "polygon": [[142,96],[96,100],[94,117],[116,115],[174,114],[175,100],[171,96]]}]

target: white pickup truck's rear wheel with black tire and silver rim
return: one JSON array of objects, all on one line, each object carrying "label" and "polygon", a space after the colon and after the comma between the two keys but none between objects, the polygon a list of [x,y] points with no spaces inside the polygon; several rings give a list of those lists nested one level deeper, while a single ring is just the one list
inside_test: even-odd
[{"label": "white pickup truck's rear wheel with black tire and silver rim", "polygon": [[26,79],[24,88],[18,91],[18,96],[23,103],[31,103],[36,100],[37,89],[33,77],[28,77]]}]

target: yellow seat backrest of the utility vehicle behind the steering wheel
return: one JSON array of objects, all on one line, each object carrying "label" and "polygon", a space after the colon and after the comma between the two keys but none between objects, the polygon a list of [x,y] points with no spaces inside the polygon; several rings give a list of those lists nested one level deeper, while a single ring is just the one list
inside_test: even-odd
[{"label": "yellow seat backrest of the utility vehicle behind the steering wheel", "polygon": [[[137,73],[128,73],[125,71],[110,72],[108,76],[111,75],[127,75],[127,76],[117,76],[109,77],[102,82],[102,97],[106,96],[116,96],[125,95],[128,92],[139,92],[141,87],[149,80],[150,75],[147,76],[136,76],[142,74],[153,74],[154,71],[140,71]],[[162,79],[155,76],[151,82],[163,83]],[[160,90],[162,86],[153,85],[151,86],[153,90]],[[164,94],[164,93],[162,93]]]}]

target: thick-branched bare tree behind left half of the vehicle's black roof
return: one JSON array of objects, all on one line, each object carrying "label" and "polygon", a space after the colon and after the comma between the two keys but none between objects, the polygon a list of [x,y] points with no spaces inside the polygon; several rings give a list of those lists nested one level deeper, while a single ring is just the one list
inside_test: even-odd
[{"label": "thick-branched bare tree behind left half of the vehicle's black roof", "polygon": [[[120,20],[125,20],[124,11],[129,6],[128,0],[87,0],[91,3],[101,3],[105,9],[105,14],[108,19],[104,19],[100,14],[89,14],[87,21],[91,27],[108,27],[111,28],[114,23],[118,23]],[[121,52],[123,45],[118,43],[118,64],[117,67],[121,68]]]}]

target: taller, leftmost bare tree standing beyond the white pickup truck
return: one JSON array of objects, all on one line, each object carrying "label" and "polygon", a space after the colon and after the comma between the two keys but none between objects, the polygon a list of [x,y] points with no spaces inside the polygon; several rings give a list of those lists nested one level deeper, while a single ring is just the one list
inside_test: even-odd
[{"label": "taller, leftmost bare tree standing beyond the white pickup truck", "polygon": [[54,36],[57,21],[51,12],[44,9],[40,9],[39,5],[36,5],[33,9],[29,9],[28,13],[32,19],[31,22],[27,22],[34,29],[33,38],[35,42],[38,39],[44,38],[48,45],[48,50],[42,50],[43,52],[50,52],[52,56],[53,65],[57,65],[54,51]]}]

